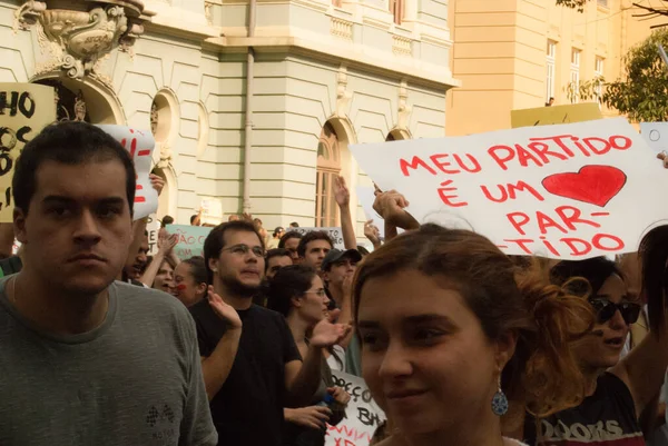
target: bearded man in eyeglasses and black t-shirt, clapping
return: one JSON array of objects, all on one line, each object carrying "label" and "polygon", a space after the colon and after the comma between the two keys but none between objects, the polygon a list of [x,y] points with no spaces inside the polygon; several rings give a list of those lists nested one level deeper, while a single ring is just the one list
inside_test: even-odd
[{"label": "bearded man in eyeglasses and black t-shirt, clapping", "polygon": [[302,361],[285,318],[253,305],[264,256],[261,235],[246,221],[217,226],[204,244],[213,287],[190,311],[219,445],[282,446],[283,408],[310,403],[321,380],[323,348],[350,330],[321,321]]}]

